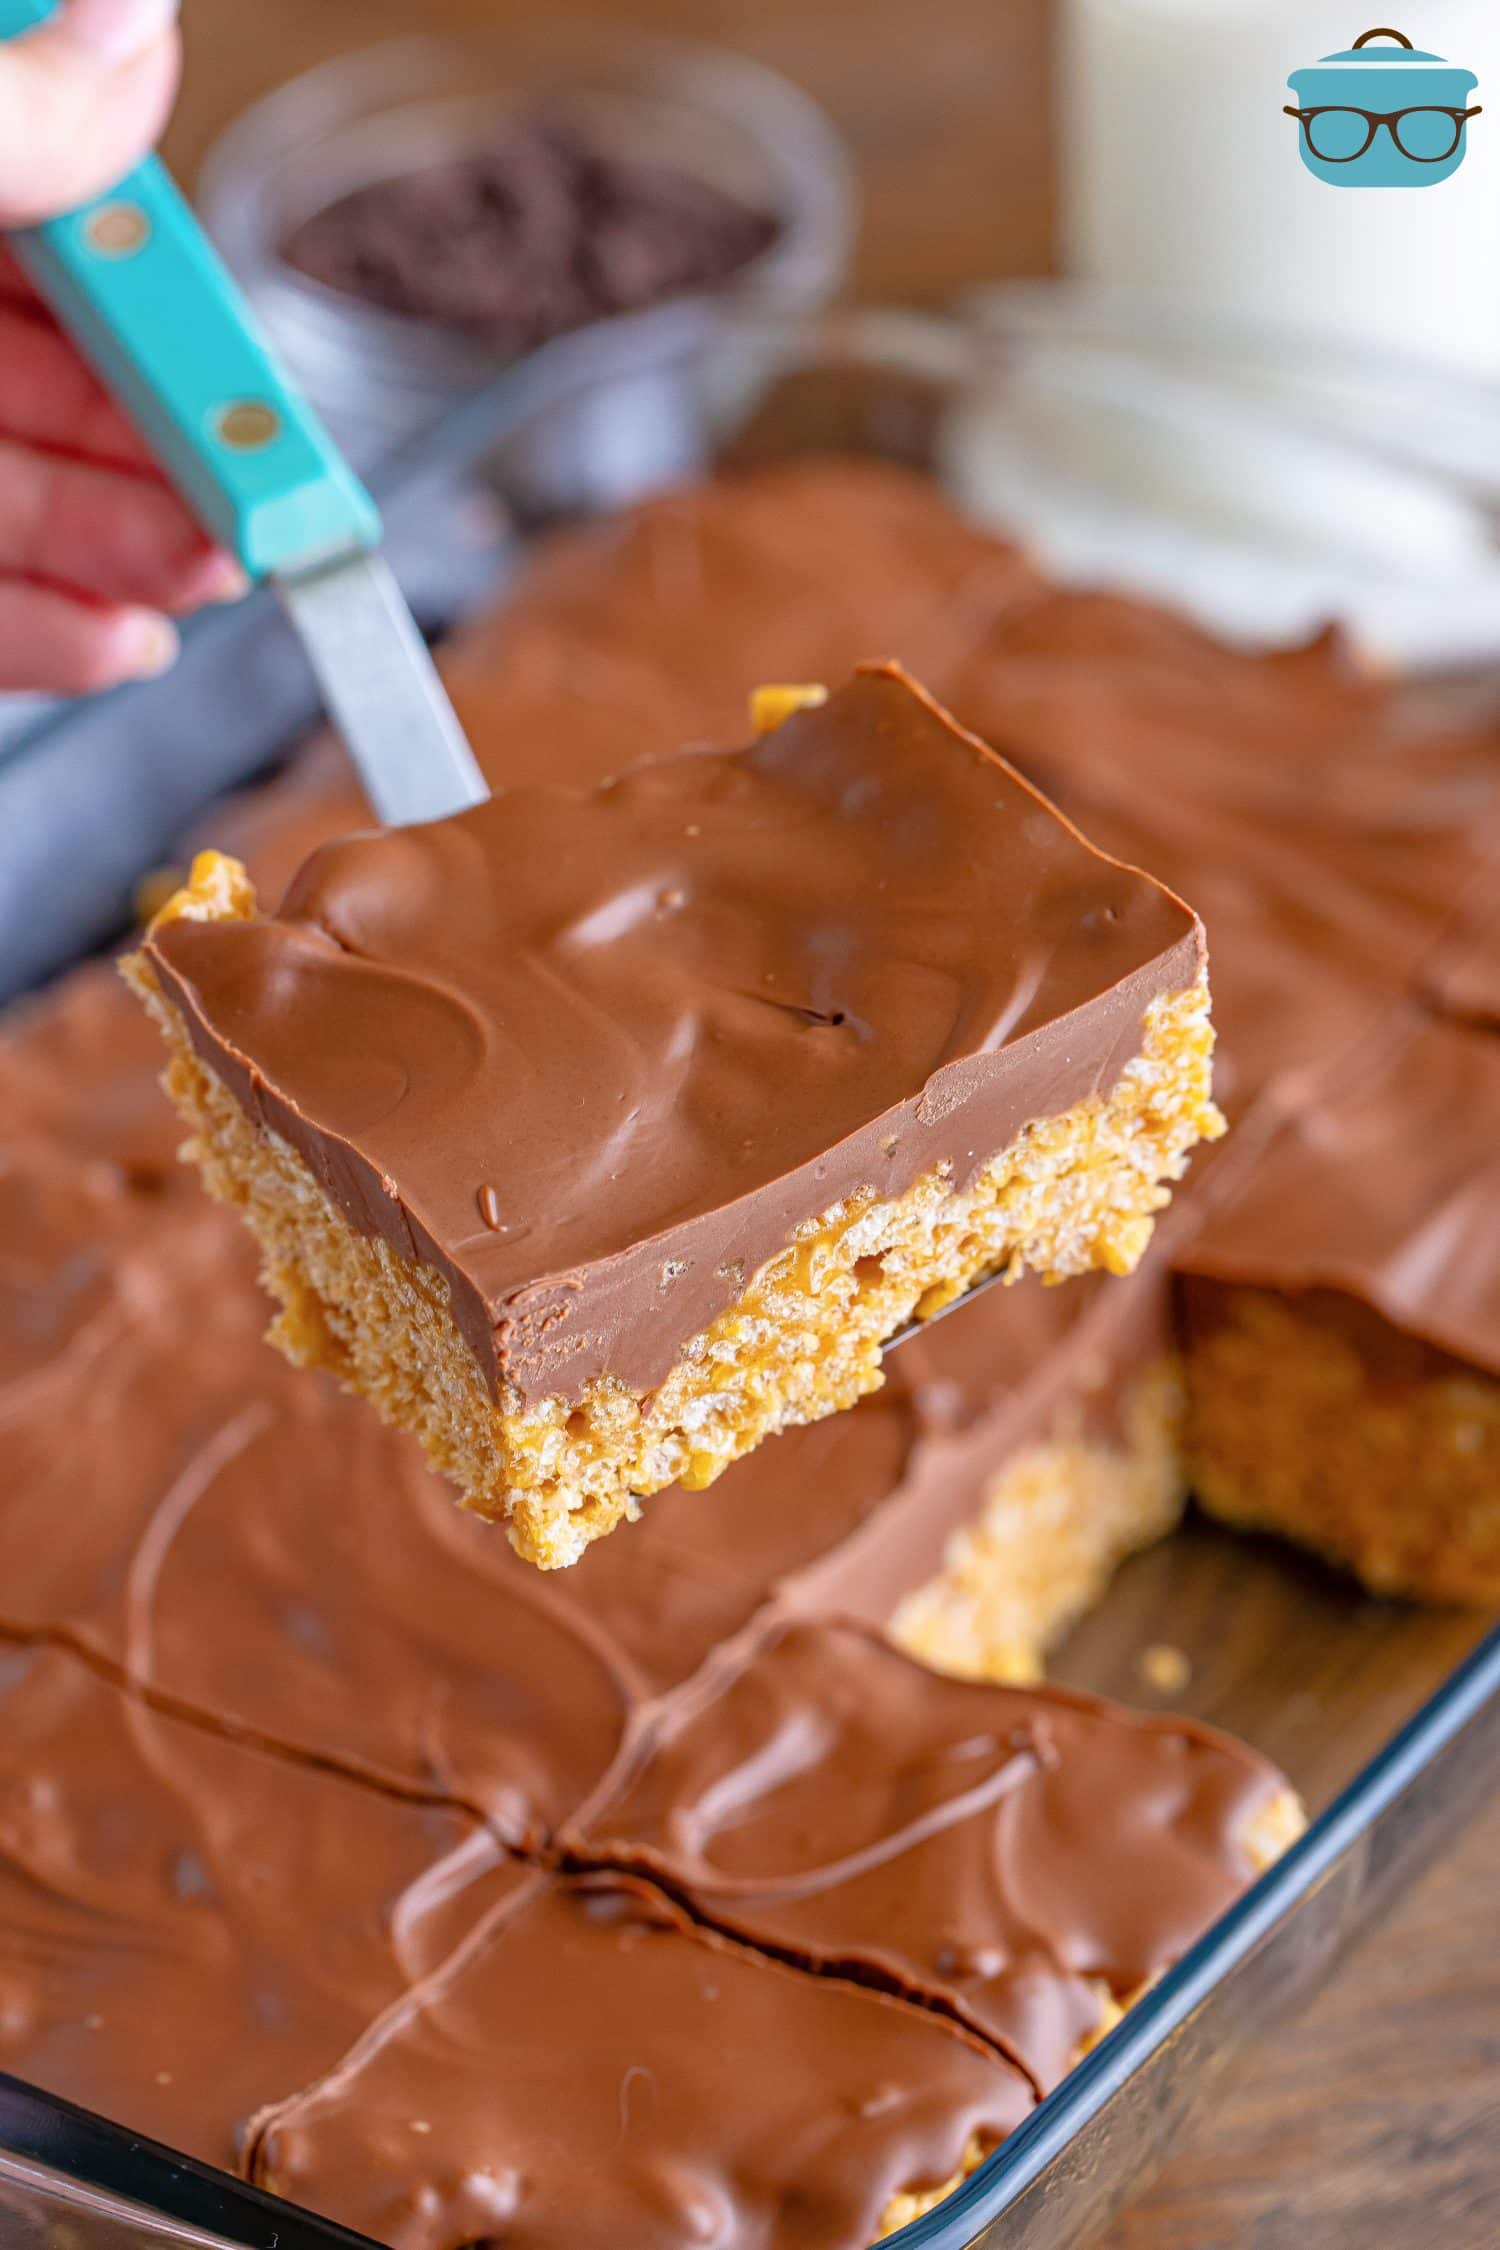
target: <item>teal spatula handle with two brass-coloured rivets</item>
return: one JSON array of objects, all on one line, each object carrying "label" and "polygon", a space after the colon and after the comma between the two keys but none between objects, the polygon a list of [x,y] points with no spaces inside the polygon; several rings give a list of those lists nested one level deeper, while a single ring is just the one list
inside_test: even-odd
[{"label": "teal spatula handle with two brass-coloured rivets", "polygon": [[[0,0],[0,38],[54,0]],[[277,367],[227,266],[155,160],[11,248],[193,515],[252,578],[380,540],[376,504]]]}]

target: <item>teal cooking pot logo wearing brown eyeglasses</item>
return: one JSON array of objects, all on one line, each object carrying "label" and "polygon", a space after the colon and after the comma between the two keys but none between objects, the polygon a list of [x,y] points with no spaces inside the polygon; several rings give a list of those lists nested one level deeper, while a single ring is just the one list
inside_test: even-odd
[{"label": "teal cooking pot logo wearing brown eyeglasses", "polygon": [[[1392,40],[1394,45],[1383,45]],[[1473,70],[1424,54],[1403,32],[1365,32],[1286,81],[1302,162],[1329,187],[1437,187],[1464,162]]]}]

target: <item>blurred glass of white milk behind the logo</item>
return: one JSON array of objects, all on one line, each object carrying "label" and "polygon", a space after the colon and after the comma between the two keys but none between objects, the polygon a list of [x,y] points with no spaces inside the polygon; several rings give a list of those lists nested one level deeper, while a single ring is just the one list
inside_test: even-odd
[{"label": "blurred glass of white milk behind the logo", "polygon": [[[1437,187],[1329,187],[1282,115],[1372,22],[1478,72]],[[1500,0],[1064,0],[1061,38],[1068,272],[1500,374]]]}]

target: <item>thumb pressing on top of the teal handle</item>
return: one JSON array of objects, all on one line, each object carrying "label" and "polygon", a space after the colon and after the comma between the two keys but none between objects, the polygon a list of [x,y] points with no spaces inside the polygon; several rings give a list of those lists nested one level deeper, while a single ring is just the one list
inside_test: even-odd
[{"label": "thumb pressing on top of the teal handle", "polygon": [[72,212],[151,148],[178,88],[178,0],[65,0],[0,43],[0,230]]}]

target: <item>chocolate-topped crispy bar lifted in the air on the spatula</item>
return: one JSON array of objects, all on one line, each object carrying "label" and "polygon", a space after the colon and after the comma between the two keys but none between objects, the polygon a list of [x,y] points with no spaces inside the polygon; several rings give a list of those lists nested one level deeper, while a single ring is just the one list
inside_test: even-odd
[{"label": "chocolate-topped crispy bar lifted in the air on the spatula", "polygon": [[1221,1130],[1192,911],[893,664],[328,846],[272,916],[209,855],[135,976],[281,1348],[544,1568],[978,1276],[1127,1274]]}]

